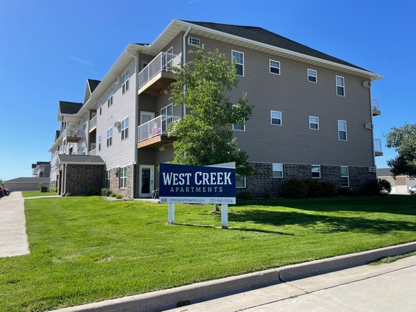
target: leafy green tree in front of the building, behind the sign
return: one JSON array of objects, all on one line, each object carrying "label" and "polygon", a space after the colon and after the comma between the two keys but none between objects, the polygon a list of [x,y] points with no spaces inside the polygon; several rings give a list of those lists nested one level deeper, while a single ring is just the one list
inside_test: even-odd
[{"label": "leafy green tree in front of the building, behind the sign", "polygon": [[176,81],[171,101],[190,111],[171,125],[169,135],[177,138],[173,163],[206,166],[236,162],[238,175],[252,175],[254,167],[247,153],[238,148],[232,131],[232,124],[247,121],[253,108],[245,93],[235,104],[227,96],[239,82],[235,62],[229,63],[218,50],[205,54],[203,46],[189,54],[193,60],[173,67]]}]

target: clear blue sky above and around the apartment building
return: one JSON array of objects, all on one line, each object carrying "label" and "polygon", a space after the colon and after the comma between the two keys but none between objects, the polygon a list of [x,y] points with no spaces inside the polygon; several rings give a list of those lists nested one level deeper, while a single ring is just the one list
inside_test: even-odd
[{"label": "clear blue sky above and around the apartment building", "polygon": [[[379,73],[374,136],[416,122],[415,0],[0,0],[0,178],[50,161],[58,101],[82,102],[87,78],[173,19],[259,26]],[[383,153],[379,168],[395,156]]]}]

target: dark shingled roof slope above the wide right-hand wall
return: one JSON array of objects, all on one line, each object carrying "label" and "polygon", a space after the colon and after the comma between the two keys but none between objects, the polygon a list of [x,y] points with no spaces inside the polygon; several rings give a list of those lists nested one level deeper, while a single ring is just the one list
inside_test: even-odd
[{"label": "dark shingled roof slope above the wide right-hand wall", "polygon": [[[322,60],[327,60],[327,61],[334,62],[337,64],[343,64],[349,67],[354,67],[356,69],[363,69],[349,62],[340,60],[339,58],[334,58],[331,55],[309,48],[309,46],[304,46],[303,44],[297,43],[286,37],[282,37],[281,35],[272,33],[271,31],[266,31],[266,29],[263,29],[261,27],[216,24],[216,23],[209,23],[205,21],[186,21],[186,22],[190,24],[202,26],[205,28],[210,28],[210,29],[213,29],[214,31],[220,31],[222,33],[228,33],[230,35],[235,35],[235,36],[242,37],[248,40],[261,42],[263,44],[269,44],[270,46],[277,46],[278,48],[281,48],[281,49],[286,49],[286,50],[290,50],[293,52],[302,53],[304,55],[309,55],[314,58],[320,58]],[[367,69],[363,69],[363,70],[367,71]]]}]

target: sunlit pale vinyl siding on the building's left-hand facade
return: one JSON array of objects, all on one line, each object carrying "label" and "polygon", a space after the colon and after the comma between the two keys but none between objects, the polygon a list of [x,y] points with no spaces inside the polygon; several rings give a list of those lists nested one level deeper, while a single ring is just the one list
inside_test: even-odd
[{"label": "sunlit pale vinyl siding on the building's left-hand facade", "polygon": [[[103,98],[103,112],[97,114],[97,128],[96,136],[101,135],[101,151],[96,150],[96,155],[101,156],[107,168],[130,166],[135,162],[135,132],[136,132],[136,115],[135,115],[135,94],[136,94],[136,72],[135,59],[125,67],[120,73],[119,77],[129,69],[129,89],[122,94],[122,85],[110,85],[103,94],[98,97]],[[107,91],[113,87],[113,104],[107,107]],[[116,121],[122,121],[128,117],[128,138],[121,141],[121,128],[114,127]],[[107,130],[112,128],[112,146],[107,147]],[[98,139],[97,139],[98,141]]]}]

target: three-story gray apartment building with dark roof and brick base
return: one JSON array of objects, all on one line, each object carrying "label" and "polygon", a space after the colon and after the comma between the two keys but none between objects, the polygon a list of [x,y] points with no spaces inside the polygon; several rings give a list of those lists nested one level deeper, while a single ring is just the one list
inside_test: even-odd
[{"label": "three-story gray apartment building with dark roof and brick base", "polygon": [[245,124],[233,125],[257,169],[237,179],[237,193],[278,197],[292,177],[338,188],[376,177],[382,152],[372,118],[381,111],[371,84],[382,76],[263,28],[175,19],[153,43],[128,44],[101,81],[87,80],[83,103],[60,102],[51,184],[83,195],[94,180],[125,197],[150,197],[157,165],[173,159],[168,125],[187,114],[169,101],[168,68],[202,44],[235,58],[239,87],[228,95],[236,101],[247,92],[254,105]]}]

